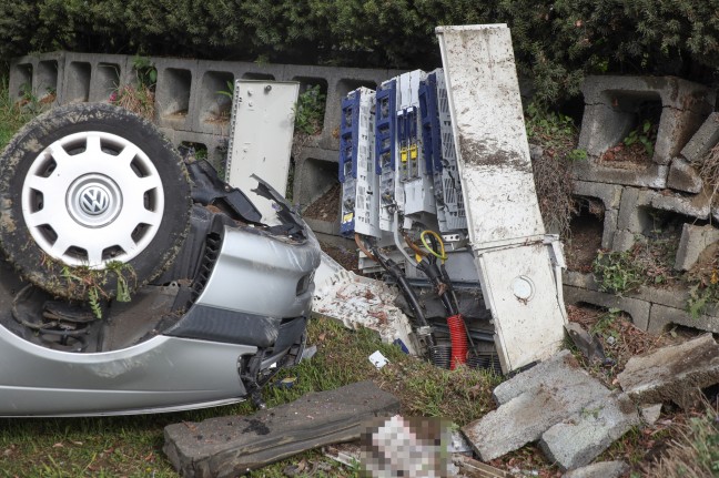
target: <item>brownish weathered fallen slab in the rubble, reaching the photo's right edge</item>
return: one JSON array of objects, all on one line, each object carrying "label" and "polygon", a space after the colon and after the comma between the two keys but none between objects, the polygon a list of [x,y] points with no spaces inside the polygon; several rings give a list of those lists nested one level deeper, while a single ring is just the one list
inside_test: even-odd
[{"label": "brownish weathered fallen slab in the rubble, reaching the photo's right edge", "polygon": [[688,408],[697,390],[719,384],[719,345],[711,334],[631,357],[617,376],[621,388],[640,403],[674,401]]}]

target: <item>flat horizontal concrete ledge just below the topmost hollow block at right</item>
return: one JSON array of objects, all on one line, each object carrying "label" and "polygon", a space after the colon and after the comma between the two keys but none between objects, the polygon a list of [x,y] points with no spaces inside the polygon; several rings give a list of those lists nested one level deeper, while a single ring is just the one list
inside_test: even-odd
[{"label": "flat horizontal concrete ledge just below the topmost hollow block at right", "polygon": [[657,190],[667,186],[669,166],[651,164],[644,170],[621,170],[608,167],[590,156],[587,161],[576,161],[571,167],[575,180],[595,181],[599,183],[621,184],[637,187],[654,187]]}]

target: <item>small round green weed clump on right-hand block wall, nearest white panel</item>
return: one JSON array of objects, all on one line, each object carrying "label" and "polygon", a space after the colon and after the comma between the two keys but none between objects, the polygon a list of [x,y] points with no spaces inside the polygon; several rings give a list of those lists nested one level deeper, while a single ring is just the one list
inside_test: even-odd
[{"label": "small round green weed clump on right-hand block wall, nearest white panel", "polygon": [[599,291],[621,295],[644,283],[644,271],[629,251],[599,252],[591,263]]}]

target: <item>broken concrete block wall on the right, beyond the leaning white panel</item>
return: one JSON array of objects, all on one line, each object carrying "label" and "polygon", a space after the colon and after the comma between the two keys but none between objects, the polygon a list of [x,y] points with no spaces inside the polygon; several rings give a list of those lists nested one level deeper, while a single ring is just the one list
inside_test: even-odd
[{"label": "broken concrete block wall on the right, beyond the leaning white panel", "polygon": [[[719,241],[719,212],[711,197],[715,185],[705,184],[693,166],[719,144],[716,92],[677,78],[637,77],[589,77],[583,92],[579,148],[586,149],[589,159],[575,165],[574,193],[604,204],[602,248],[628,251],[638,240],[654,236],[655,217],[670,215],[683,224],[677,234],[674,268],[691,268]],[[647,103],[660,111],[650,163],[619,169],[600,161],[605,151],[637,126]],[[578,272],[565,274],[564,283],[567,303],[620,308],[645,330],[660,333],[682,325],[719,332],[719,307],[691,317],[688,289],[641,287],[617,296],[600,292],[591,274]]]}]

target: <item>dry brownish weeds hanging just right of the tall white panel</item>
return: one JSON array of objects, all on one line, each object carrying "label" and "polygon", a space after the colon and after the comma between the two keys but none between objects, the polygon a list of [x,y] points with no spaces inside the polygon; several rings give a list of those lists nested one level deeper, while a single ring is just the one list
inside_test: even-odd
[{"label": "dry brownish weeds hanging just right of the tall white panel", "polygon": [[571,163],[585,160],[587,153],[576,149],[578,131],[569,116],[527,106],[527,138],[543,149],[533,161],[539,210],[547,227],[568,237],[569,221],[576,213],[571,199]]}]

